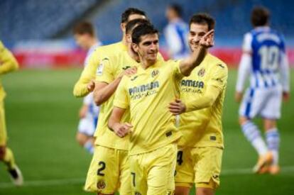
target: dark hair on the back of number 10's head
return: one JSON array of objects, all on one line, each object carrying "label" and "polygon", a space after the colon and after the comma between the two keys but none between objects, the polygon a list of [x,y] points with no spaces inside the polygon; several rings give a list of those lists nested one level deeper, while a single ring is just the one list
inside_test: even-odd
[{"label": "dark hair on the back of number 10's head", "polygon": [[256,6],[251,11],[251,23],[254,27],[265,26],[271,16],[270,11],[263,6]]}]

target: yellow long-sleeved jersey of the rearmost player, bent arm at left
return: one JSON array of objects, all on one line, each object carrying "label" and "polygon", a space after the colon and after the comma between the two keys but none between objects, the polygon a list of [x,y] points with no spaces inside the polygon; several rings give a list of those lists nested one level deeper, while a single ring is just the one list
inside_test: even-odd
[{"label": "yellow long-sleeved jersey of the rearmost player, bent arm at left", "polygon": [[104,59],[105,56],[115,55],[126,50],[126,45],[124,45],[122,42],[113,43],[111,45],[104,45],[94,50],[92,55],[90,55],[88,64],[82,71],[80,79],[75,84],[73,91],[74,96],[82,97],[89,94],[87,84],[89,84],[92,79],[95,79],[97,67],[100,65],[100,62]]}]

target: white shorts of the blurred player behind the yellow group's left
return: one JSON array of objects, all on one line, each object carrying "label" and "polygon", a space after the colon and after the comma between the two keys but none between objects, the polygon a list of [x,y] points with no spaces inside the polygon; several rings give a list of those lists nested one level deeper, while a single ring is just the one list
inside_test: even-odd
[{"label": "white shorts of the blurred player behind the yellow group's left", "polygon": [[87,113],[85,118],[82,118],[79,122],[77,130],[79,133],[83,133],[92,137],[95,133],[97,126],[97,117],[92,116],[92,114]]}]

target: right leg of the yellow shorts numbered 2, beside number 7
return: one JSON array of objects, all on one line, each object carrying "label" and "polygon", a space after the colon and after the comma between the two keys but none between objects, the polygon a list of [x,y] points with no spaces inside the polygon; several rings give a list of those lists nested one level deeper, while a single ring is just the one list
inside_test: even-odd
[{"label": "right leg of the yellow shorts numbered 2, beside number 7", "polygon": [[120,150],[120,165],[119,165],[119,194],[131,194],[131,174],[128,151]]}]

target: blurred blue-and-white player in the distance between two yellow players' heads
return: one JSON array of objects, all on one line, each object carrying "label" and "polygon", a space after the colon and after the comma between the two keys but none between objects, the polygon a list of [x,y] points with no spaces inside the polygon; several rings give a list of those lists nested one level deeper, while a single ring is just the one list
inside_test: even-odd
[{"label": "blurred blue-and-white player in the distance between two yellow players' heads", "polygon": [[183,59],[190,53],[187,35],[189,28],[183,21],[182,8],[178,4],[171,4],[166,9],[168,26],[164,29],[166,43],[168,44],[169,55],[173,59]]}]

